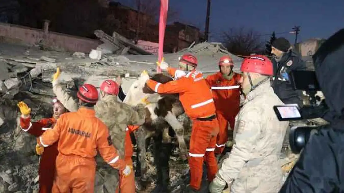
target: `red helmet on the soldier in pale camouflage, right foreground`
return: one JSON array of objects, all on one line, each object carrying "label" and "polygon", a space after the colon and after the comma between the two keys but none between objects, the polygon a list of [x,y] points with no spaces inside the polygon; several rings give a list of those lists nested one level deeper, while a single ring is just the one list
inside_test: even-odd
[{"label": "red helmet on the soldier in pale camouflage, right foreground", "polygon": [[241,63],[241,72],[255,72],[264,75],[273,75],[272,62],[268,57],[253,55],[244,59]]}]

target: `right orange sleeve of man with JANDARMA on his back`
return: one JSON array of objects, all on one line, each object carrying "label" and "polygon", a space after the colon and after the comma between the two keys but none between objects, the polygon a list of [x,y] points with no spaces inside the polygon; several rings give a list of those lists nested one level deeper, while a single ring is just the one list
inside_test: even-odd
[{"label": "right orange sleeve of man with JANDARMA on his back", "polygon": [[107,164],[118,170],[125,169],[126,164],[119,158],[117,149],[112,145],[111,136],[106,127],[101,128],[98,132],[96,143],[101,157],[103,157]]}]

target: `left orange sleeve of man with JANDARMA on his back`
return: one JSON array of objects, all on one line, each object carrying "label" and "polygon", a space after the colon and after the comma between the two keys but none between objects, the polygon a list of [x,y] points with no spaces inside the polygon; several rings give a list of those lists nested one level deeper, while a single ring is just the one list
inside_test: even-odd
[{"label": "left orange sleeve of man with JANDARMA on his back", "polygon": [[61,124],[63,124],[63,117],[57,120],[53,129],[46,130],[40,137],[37,138],[37,143],[43,147],[52,145],[60,138]]}]

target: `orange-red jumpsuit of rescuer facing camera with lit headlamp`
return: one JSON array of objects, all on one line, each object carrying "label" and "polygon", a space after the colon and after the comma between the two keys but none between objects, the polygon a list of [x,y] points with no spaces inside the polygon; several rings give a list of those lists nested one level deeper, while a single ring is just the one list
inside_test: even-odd
[{"label": "orange-red jumpsuit of rescuer facing camera with lit headlamp", "polygon": [[228,122],[230,128],[234,129],[235,117],[239,112],[240,86],[238,81],[241,75],[233,72],[233,78],[225,79],[221,72],[209,75],[206,81],[212,89],[216,117],[220,125],[220,131],[216,138],[215,154],[221,154],[228,139]]}]

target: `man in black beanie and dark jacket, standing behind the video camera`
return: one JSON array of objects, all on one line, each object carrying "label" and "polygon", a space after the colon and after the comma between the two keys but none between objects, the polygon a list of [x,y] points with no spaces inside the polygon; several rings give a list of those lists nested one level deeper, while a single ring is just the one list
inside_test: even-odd
[{"label": "man in black beanie and dark jacket, standing behind the video camera", "polygon": [[[301,57],[291,49],[291,45],[286,38],[277,38],[271,44],[273,54],[273,77],[271,86],[275,94],[286,105],[298,104],[302,107],[302,91],[293,90],[290,82],[290,72],[293,70],[305,70],[306,64]],[[290,126],[305,126],[305,121],[291,121]],[[289,144],[289,132],[287,129],[283,141],[283,151],[287,151]],[[289,152],[286,154],[289,154]]]}]

